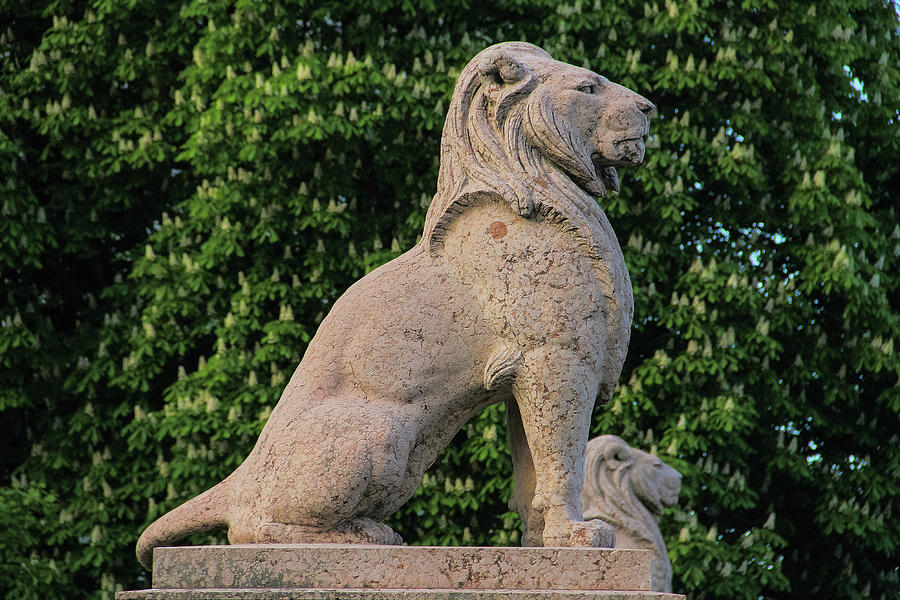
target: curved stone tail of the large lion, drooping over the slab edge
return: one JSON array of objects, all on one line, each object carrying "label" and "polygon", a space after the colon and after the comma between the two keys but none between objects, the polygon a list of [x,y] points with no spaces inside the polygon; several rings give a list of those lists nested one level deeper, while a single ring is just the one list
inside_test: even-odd
[{"label": "curved stone tail of the large lion, drooping over the slab edge", "polygon": [[196,498],[167,512],[144,530],[136,554],[145,569],[153,565],[153,549],[167,546],[192,533],[202,533],[228,524],[228,479]]}]

